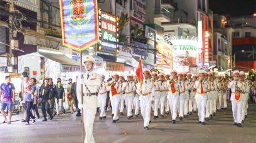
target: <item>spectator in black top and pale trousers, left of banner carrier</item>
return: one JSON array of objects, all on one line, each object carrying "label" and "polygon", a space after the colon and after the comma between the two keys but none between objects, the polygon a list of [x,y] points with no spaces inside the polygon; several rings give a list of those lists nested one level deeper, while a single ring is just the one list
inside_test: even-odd
[{"label": "spectator in black top and pale trousers, left of banner carrier", "polygon": [[63,99],[65,99],[65,90],[62,87],[61,81],[58,81],[58,87],[56,89],[59,96],[59,103],[56,105],[57,114],[59,114],[59,107],[62,109],[63,114],[65,114],[65,109],[63,107]]}]

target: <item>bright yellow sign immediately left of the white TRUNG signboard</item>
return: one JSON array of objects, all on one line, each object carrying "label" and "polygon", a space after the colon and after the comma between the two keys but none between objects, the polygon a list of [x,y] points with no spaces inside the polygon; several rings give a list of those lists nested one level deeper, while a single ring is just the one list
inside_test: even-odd
[{"label": "bright yellow sign immediately left of the white TRUNG signboard", "polygon": [[157,42],[156,49],[158,50],[158,53],[161,53],[168,59],[172,60],[173,46],[169,44],[164,44],[162,42]]}]

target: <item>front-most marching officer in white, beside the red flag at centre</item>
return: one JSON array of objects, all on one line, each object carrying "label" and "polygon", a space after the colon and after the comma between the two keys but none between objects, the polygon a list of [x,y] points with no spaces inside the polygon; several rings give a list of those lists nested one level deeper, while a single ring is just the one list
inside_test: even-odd
[{"label": "front-most marching officer in white, beside the red flag at centre", "polygon": [[145,68],[143,71],[143,83],[142,88],[140,88],[141,84],[138,84],[137,93],[139,96],[140,106],[141,106],[141,114],[144,119],[144,129],[149,129],[150,123],[150,110],[151,105],[155,101],[155,86],[154,81],[150,79],[150,71]]}]

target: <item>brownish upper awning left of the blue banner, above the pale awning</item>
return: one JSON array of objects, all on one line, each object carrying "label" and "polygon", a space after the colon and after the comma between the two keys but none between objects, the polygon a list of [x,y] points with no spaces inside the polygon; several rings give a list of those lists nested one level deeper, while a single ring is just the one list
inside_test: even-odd
[{"label": "brownish upper awning left of the blue banner, above the pale awning", "polygon": [[[8,23],[0,21],[0,24],[8,28]],[[26,27],[23,27],[21,30],[17,31],[21,32],[22,34],[25,34],[24,44],[31,44],[58,50],[60,43],[62,42],[62,39],[60,38],[47,37],[45,35],[40,34],[39,32],[28,29]]]}]

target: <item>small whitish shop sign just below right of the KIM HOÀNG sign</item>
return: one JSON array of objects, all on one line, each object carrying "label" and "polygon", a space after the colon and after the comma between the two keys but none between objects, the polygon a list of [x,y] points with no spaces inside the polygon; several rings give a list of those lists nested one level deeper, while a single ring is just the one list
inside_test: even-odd
[{"label": "small whitish shop sign just below right of the KIM HO\u00c0NG sign", "polygon": [[117,58],[122,59],[124,61],[132,61],[132,54],[134,54],[134,50],[131,47],[126,47],[123,45],[119,45],[119,54],[117,54]]}]

